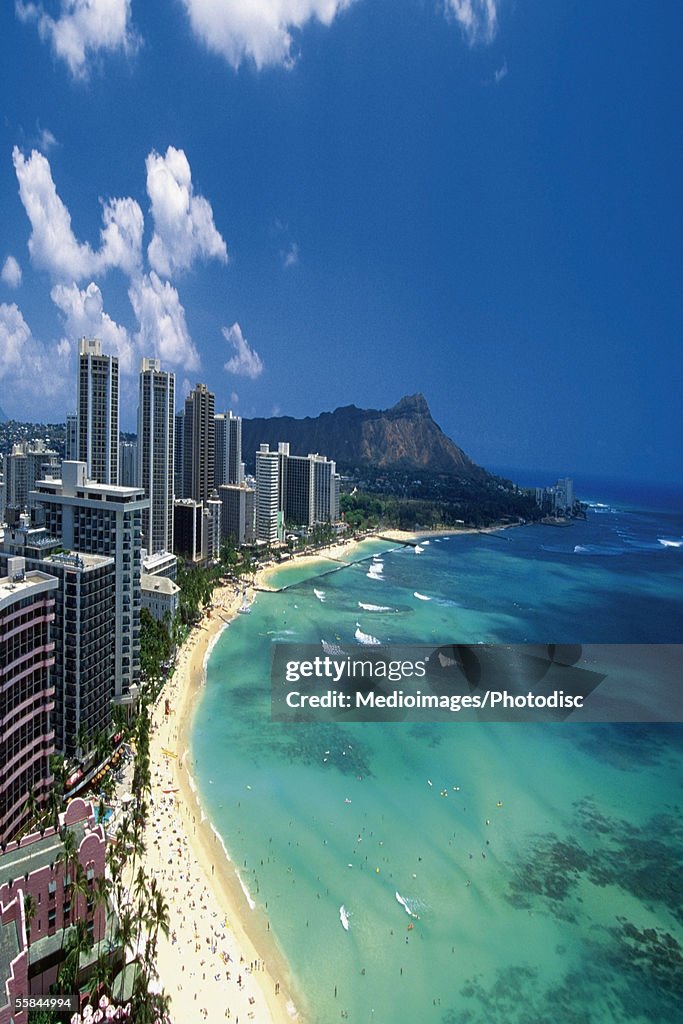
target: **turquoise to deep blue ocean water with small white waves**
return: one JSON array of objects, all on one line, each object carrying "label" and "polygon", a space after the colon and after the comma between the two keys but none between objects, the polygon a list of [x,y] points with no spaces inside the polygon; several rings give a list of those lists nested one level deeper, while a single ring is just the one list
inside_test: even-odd
[{"label": "turquoise to deep blue ocean water with small white waves", "polygon": [[676,511],[616,506],[432,538],[370,577],[372,557],[260,594],[225,631],[194,770],[310,1021],[680,1019],[680,726],[269,717],[270,642],[352,642],[356,623],[383,641],[678,642],[679,542]]}]

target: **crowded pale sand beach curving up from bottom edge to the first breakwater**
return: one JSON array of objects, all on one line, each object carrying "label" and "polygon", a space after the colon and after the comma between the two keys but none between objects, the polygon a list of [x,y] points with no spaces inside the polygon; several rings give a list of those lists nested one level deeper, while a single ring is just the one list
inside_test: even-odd
[{"label": "crowded pale sand beach curving up from bottom edge to the first breakwater", "polygon": [[[249,592],[253,600],[252,587]],[[144,857],[169,906],[169,938],[160,934],[157,966],[174,1024],[305,1021],[269,922],[248,903],[229,842],[208,818],[191,775],[189,734],[208,659],[241,601],[231,588],[214,591],[211,614],[183,644],[152,715],[153,813]]]}]

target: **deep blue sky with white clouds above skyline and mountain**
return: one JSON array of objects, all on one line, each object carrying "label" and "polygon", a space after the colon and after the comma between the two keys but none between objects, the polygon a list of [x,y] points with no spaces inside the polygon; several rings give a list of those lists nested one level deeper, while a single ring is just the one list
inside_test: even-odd
[{"label": "deep blue sky with white clouds above skyline and mountain", "polygon": [[[76,340],[244,416],[422,391],[482,465],[681,478],[683,8],[0,7],[0,407]],[[331,453],[332,454],[332,453]]]}]

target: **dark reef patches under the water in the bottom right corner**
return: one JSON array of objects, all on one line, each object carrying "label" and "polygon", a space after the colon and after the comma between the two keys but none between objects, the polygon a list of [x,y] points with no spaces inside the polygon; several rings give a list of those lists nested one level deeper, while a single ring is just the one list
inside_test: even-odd
[{"label": "dark reef patches under the water in the bottom right corner", "polygon": [[[641,827],[599,810],[592,798],[573,805],[567,836],[532,835],[509,863],[506,898],[527,911],[550,911],[565,922],[567,943],[558,955],[573,961],[560,984],[544,986],[528,965],[482,976],[461,989],[463,1005],[442,1024],[594,1024],[656,1021],[674,1024],[683,1006],[683,947],[666,926],[642,927],[626,916],[613,926],[593,924],[586,935],[580,883],[613,886],[652,911],[683,925],[683,821],[680,808],[653,815]],[[629,901],[629,906],[633,906]],[[630,915],[635,911],[631,909]],[[579,945],[569,941],[573,935]],[[673,931],[677,931],[673,927]],[[580,950],[581,963],[577,964]]]}]

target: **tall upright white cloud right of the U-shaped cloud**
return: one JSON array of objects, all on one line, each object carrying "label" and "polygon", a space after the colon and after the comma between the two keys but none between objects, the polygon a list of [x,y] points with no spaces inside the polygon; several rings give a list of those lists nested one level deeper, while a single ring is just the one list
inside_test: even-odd
[{"label": "tall upright white cloud right of the U-shaped cloud", "polygon": [[213,222],[211,204],[195,196],[189,163],[182,150],[154,151],[145,162],[155,233],[147,249],[151,266],[166,276],[186,270],[199,257],[227,262],[227,247]]}]

